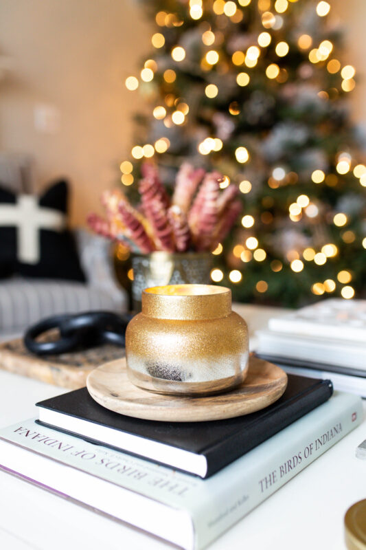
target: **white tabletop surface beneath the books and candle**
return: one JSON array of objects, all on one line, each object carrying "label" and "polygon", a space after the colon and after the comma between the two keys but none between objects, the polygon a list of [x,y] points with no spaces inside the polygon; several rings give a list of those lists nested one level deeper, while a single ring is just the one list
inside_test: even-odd
[{"label": "white tabletop surface beneath the books and candle", "polygon": [[[238,308],[239,310],[239,308]],[[249,328],[280,310],[240,307]],[[36,417],[34,403],[65,392],[0,371],[0,427]],[[364,401],[366,411],[366,401]],[[356,447],[366,421],[223,534],[209,550],[345,550],[343,517],[366,498]],[[168,550],[172,545],[0,472],[1,550]]]}]

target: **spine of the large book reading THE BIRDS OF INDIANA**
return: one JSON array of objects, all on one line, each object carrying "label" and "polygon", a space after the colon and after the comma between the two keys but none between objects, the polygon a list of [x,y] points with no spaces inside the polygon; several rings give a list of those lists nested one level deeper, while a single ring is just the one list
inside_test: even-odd
[{"label": "spine of the large book reading THE BIRDS OF INDIANA", "polygon": [[[214,482],[215,493],[210,494],[204,508],[202,503],[197,507],[193,516],[197,549],[218,538],[361,423],[361,399],[347,394],[337,397],[343,397],[338,407],[334,408],[330,399],[297,421],[296,426],[275,435],[206,481],[207,485]],[[266,456],[261,456],[264,453]]]}]

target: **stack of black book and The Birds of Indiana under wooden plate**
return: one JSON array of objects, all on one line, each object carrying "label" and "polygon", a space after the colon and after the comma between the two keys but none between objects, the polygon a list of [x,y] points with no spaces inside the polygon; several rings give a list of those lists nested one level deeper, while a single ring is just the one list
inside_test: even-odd
[{"label": "stack of black book and The Birds of Indiana under wooden plate", "polygon": [[288,376],[271,406],[220,421],[118,415],[86,388],[0,430],[0,467],[187,550],[200,549],[355,428],[361,399]]}]

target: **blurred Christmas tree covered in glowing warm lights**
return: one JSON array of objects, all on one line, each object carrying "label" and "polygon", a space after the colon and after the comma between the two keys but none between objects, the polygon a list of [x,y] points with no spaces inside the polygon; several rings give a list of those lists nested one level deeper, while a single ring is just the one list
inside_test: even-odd
[{"label": "blurred Christmas tree covered in glowing warm lights", "polygon": [[[238,226],[212,251],[214,282],[236,299],[301,305],[361,296],[366,280],[363,136],[345,96],[330,4],[312,0],[141,1],[152,51],[126,87],[138,115],[121,164],[133,190],[154,157],[167,185],[183,161],[225,175],[242,199]],[[132,161],[132,162],[131,162]]]}]

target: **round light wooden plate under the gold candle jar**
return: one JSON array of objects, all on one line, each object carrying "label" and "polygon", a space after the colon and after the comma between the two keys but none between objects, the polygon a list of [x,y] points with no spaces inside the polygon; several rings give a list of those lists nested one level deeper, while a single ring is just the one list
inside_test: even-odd
[{"label": "round light wooden plate under the gold candle jar", "polygon": [[208,397],[160,395],[129,380],[126,359],[105,363],[87,378],[88,391],[105,408],[129,417],[166,422],[198,422],[239,417],[277,401],[287,386],[279,366],[251,356],[249,373],[236,390]]}]

